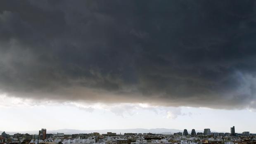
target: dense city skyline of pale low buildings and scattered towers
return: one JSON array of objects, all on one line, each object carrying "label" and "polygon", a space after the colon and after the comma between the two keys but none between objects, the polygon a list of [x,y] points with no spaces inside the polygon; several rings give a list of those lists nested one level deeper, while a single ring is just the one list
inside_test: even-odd
[{"label": "dense city skyline of pale low buildings and scattered towers", "polygon": [[38,135],[28,133],[16,133],[8,135],[2,132],[0,144],[256,144],[256,134],[250,132],[236,133],[235,126],[230,127],[230,132],[211,132],[206,128],[204,132],[196,132],[194,129],[188,133],[172,134],[157,133],[115,133],[100,134],[93,132],[88,134],[47,133],[45,128],[39,130]]}]

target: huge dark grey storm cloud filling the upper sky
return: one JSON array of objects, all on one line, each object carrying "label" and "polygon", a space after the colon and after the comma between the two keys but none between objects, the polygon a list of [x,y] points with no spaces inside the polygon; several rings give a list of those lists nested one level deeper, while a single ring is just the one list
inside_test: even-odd
[{"label": "huge dark grey storm cloud filling the upper sky", "polygon": [[57,101],[256,104],[254,0],[0,1],[0,89]]}]

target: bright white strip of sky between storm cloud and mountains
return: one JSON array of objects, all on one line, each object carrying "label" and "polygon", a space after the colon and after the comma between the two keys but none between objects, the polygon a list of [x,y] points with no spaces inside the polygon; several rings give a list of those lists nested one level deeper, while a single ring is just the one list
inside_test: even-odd
[{"label": "bright white strip of sky between storm cloud and mountains", "polygon": [[36,105],[30,100],[0,96],[0,131],[77,129],[104,130],[129,128],[172,128],[219,132],[256,133],[256,112],[193,107],[151,107],[147,104],[51,104]]}]

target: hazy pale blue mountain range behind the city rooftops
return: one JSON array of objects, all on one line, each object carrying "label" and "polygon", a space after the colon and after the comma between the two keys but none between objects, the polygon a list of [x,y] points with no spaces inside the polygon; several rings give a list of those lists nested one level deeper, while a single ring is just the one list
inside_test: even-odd
[{"label": "hazy pale blue mountain range behind the city rooftops", "polygon": [[[9,135],[14,135],[16,133],[25,134],[28,133],[30,135],[38,135],[38,130],[33,131],[17,131],[17,132],[8,132],[5,131]],[[73,130],[73,129],[61,129],[61,130],[47,130],[48,134],[57,134],[64,133],[66,135],[70,134],[81,134],[81,133],[92,133],[92,132],[99,132],[100,134],[106,134],[107,132],[116,132],[116,134],[124,134],[124,133],[156,133],[156,134],[173,134],[175,132],[183,132],[183,130],[177,130],[177,129],[166,129],[166,128],[155,128],[155,129],[143,129],[143,128],[136,128],[136,129],[109,129],[109,130]],[[188,130],[190,133],[191,130]],[[196,132],[203,132],[202,130],[196,130]],[[211,131],[211,132],[217,132],[217,131]],[[2,133],[2,131],[0,131]]]}]

